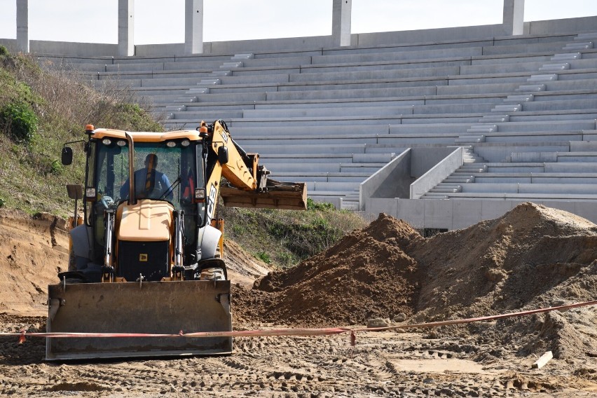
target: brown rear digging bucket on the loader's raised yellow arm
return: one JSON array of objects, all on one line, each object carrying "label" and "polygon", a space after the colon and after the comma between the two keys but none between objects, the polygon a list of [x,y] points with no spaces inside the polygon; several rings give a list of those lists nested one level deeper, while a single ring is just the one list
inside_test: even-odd
[{"label": "brown rear digging bucket on the loader's raised yellow arm", "polygon": [[306,210],[307,186],[305,183],[280,182],[268,179],[263,192],[242,191],[221,186],[220,195],[228,207],[256,207],[266,209]]}]

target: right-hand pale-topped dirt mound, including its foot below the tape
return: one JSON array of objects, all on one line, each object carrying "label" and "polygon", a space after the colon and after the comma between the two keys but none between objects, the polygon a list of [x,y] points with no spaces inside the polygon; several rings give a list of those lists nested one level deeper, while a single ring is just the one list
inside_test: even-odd
[{"label": "right-hand pale-topped dirt mound, including its foot below the tape", "polygon": [[[425,240],[412,253],[423,277],[418,321],[494,315],[597,296],[597,227],[523,203],[504,216]],[[487,338],[523,354],[584,355],[597,341],[583,325],[595,308],[497,322]],[[475,330],[474,327],[472,330]]]}]

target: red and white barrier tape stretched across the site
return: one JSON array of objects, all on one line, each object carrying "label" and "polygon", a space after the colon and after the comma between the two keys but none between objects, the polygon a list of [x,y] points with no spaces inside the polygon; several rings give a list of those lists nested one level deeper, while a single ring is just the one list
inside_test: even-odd
[{"label": "red and white barrier tape stretched across the site", "polygon": [[526,315],[533,315],[537,313],[549,313],[550,311],[570,310],[570,308],[595,306],[596,301],[584,301],[582,303],[567,304],[565,306],[540,308],[537,310],[526,310],[517,313],[508,313],[500,315],[489,315],[486,317],[466,318],[462,320],[446,320],[439,322],[426,322],[420,324],[400,324],[390,327],[365,327],[359,329],[348,329],[341,327],[322,328],[322,329],[263,329],[263,330],[245,330],[245,331],[198,331],[191,333],[184,333],[179,331],[178,334],[146,334],[146,333],[66,333],[66,332],[27,332],[7,333],[0,332],[0,336],[18,336],[19,343],[24,343],[27,336],[30,337],[54,337],[54,338],[109,338],[109,337],[259,337],[259,336],[333,336],[336,334],[350,333],[350,343],[355,345],[357,331],[383,331],[394,329],[412,329],[412,328],[427,328],[440,327],[453,324],[466,324],[472,322],[482,322],[489,320],[500,320],[509,317],[521,317]]}]

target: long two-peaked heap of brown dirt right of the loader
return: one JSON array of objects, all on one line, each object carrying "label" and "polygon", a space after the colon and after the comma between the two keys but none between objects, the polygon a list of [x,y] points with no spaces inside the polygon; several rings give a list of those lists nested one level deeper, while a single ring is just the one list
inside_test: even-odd
[{"label": "long two-peaked heap of brown dirt right of the loader", "polygon": [[[421,238],[381,214],[296,268],[270,273],[253,291],[235,290],[242,319],[283,324],[364,324],[476,317],[597,297],[597,227],[586,219],[523,203],[503,217]],[[472,325],[471,336],[550,349],[565,357],[594,350],[594,308]],[[462,333],[462,331],[460,331]]]}]

